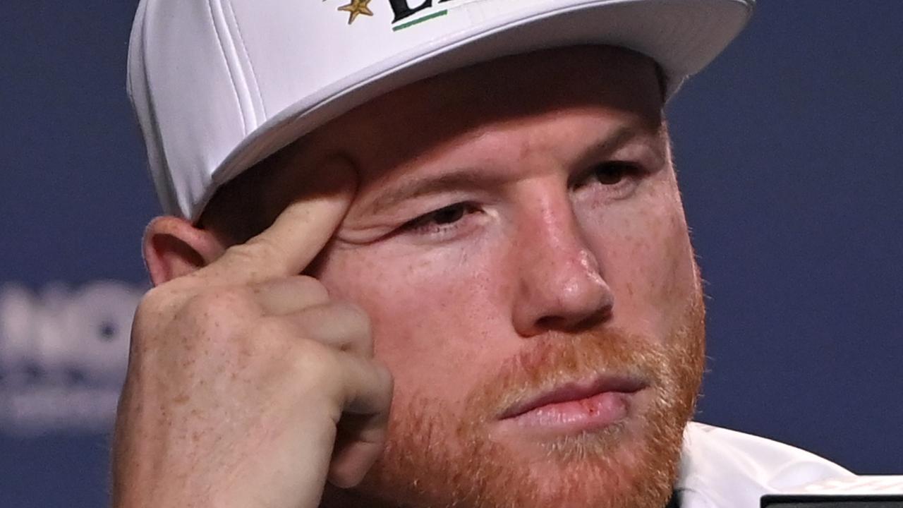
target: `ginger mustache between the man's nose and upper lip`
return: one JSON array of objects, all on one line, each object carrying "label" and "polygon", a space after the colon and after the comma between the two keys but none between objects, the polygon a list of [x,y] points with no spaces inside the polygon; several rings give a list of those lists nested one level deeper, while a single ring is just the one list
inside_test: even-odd
[{"label": "ginger mustache between the man's nose and upper lip", "polygon": [[604,328],[583,334],[550,333],[529,341],[533,342],[529,347],[470,392],[467,409],[481,423],[517,401],[569,382],[611,376],[652,388],[666,384],[666,346],[648,337]]}]

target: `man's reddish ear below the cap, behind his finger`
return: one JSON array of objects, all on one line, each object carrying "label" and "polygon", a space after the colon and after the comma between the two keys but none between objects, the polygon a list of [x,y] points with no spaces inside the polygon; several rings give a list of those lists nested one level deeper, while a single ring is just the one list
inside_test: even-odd
[{"label": "man's reddish ear below the cap, behind his finger", "polygon": [[144,230],[144,264],[159,286],[190,274],[222,256],[226,246],[209,230],[178,217],[157,217]]}]

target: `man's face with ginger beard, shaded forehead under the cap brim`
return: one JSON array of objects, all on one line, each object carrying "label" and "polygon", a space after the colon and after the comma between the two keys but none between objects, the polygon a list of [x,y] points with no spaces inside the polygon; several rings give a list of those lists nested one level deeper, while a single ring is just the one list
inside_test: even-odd
[{"label": "man's face with ginger beard, shaded forehead under the cap brim", "polygon": [[275,188],[337,155],[358,193],[315,275],[396,380],[358,503],[664,505],[703,304],[652,62],[569,48],[397,90]]}]

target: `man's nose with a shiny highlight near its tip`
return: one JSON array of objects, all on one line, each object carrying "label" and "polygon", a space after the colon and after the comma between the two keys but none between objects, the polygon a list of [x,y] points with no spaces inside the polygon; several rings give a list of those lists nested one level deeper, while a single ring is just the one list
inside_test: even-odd
[{"label": "man's nose with a shiny highlight near its tip", "polygon": [[517,333],[576,332],[609,319],[614,297],[570,199],[547,196],[539,203],[518,226]]}]

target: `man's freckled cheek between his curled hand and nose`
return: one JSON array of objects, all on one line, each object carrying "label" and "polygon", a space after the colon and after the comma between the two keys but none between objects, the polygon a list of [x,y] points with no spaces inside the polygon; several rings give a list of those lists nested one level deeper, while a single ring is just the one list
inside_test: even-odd
[{"label": "man's freckled cheek between his curled hand and nose", "polygon": [[[498,249],[411,251],[391,242],[333,249],[318,277],[336,299],[362,306],[377,358],[396,381],[396,400],[464,400],[486,365],[506,315]],[[498,346],[498,343],[496,343]],[[470,382],[469,382],[470,381]]]}]

